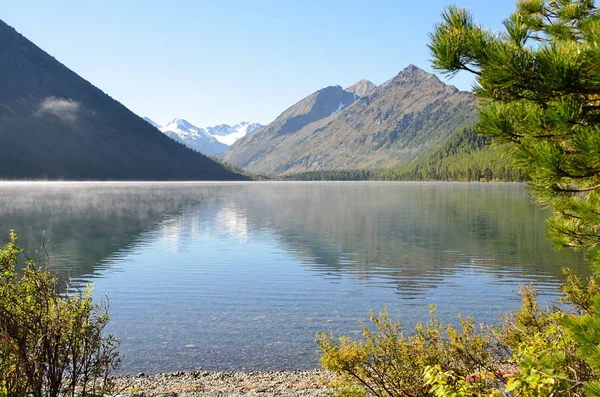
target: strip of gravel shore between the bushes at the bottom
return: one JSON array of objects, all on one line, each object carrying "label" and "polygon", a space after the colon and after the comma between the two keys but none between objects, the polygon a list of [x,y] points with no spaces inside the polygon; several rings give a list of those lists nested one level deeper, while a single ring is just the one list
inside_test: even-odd
[{"label": "strip of gravel shore between the bushes at the bottom", "polygon": [[333,393],[325,384],[324,371],[261,372],[173,372],[113,379],[120,397],[187,396],[304,396],[324,397]]}]

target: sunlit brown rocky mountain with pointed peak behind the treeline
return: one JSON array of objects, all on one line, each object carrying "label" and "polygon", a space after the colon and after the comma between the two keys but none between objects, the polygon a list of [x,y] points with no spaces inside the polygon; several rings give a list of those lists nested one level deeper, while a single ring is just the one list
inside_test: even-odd
[{"label": "sunlit brown rocky mountain with pointed peak behind the treeline", "polygon": [[[440,148],[477,118],[472,94],[414,65],[374,90],[368,82],[349,89],[367,95],[344,102],[339,112],[305,117],[318,108],[314,97],[324,90],[318,91],[240,139],[224,159],[251,172],[271,174],[401,166]],[[344,98],[358,97],[339,86],[338,90]],[[299,114],[295,118],[294,112]],[[290,120],[300,117],[301,123],[287,128]]]}]

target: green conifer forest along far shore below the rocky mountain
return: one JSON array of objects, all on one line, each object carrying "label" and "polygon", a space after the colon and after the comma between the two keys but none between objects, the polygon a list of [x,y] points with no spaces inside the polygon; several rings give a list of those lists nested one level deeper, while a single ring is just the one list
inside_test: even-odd
[{"label": "green conifer forest along far shore below the rocky mountain", "polygon": [[526,175],[512,166],[506,145],[491,145],[472,128],[454,134],[436,152],[398,168],[309,171],[285,175],[297,181],[461,181],[523,182]]}]

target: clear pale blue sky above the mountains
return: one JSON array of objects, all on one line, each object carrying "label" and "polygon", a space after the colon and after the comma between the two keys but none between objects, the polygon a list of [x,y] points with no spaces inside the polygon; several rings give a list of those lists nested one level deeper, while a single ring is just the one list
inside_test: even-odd
[{"label": "clear pale blue sky above the mountains", "polygon": [[[310,93],[431,71],[448,0],[0,0],[0,18],[140,116],[268,123]],[[500,29],[514,0],[457,0]],[[469,75],[450,81],[467,90]]]}]

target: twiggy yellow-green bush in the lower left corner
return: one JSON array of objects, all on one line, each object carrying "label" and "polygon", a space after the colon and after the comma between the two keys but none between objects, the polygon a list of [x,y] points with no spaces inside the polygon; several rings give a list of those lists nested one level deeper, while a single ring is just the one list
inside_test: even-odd
[{"label": "twiggy yellow-green bush in the lower left corner", "polygon": [[25,260],[17,237],[0,249],[0,396],[94,396],[118,363],[117,342],[102,331],[106,305],[90,289],[58,292],[57,279]]}]

